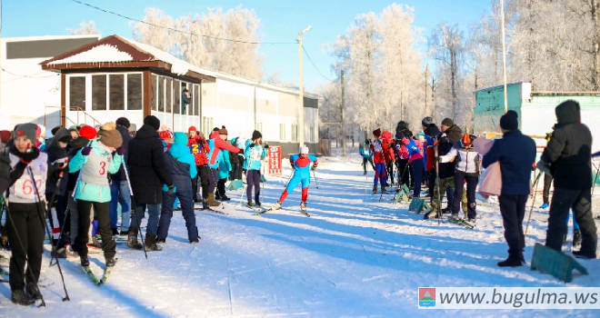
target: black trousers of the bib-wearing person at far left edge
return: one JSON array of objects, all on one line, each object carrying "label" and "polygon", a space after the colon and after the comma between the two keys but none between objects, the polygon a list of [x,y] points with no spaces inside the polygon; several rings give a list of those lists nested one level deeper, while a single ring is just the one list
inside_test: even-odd
[{"label": "black trousers of the bib-wearing person at far left edge", "polygon": [[[8,276],[10,289],[23,290],[25,281],[37,283],[42,268],[45,229],[38,204],[8,204],[5,229],[13,252]],[[31,272],[25,271],[25,262]]]}]

